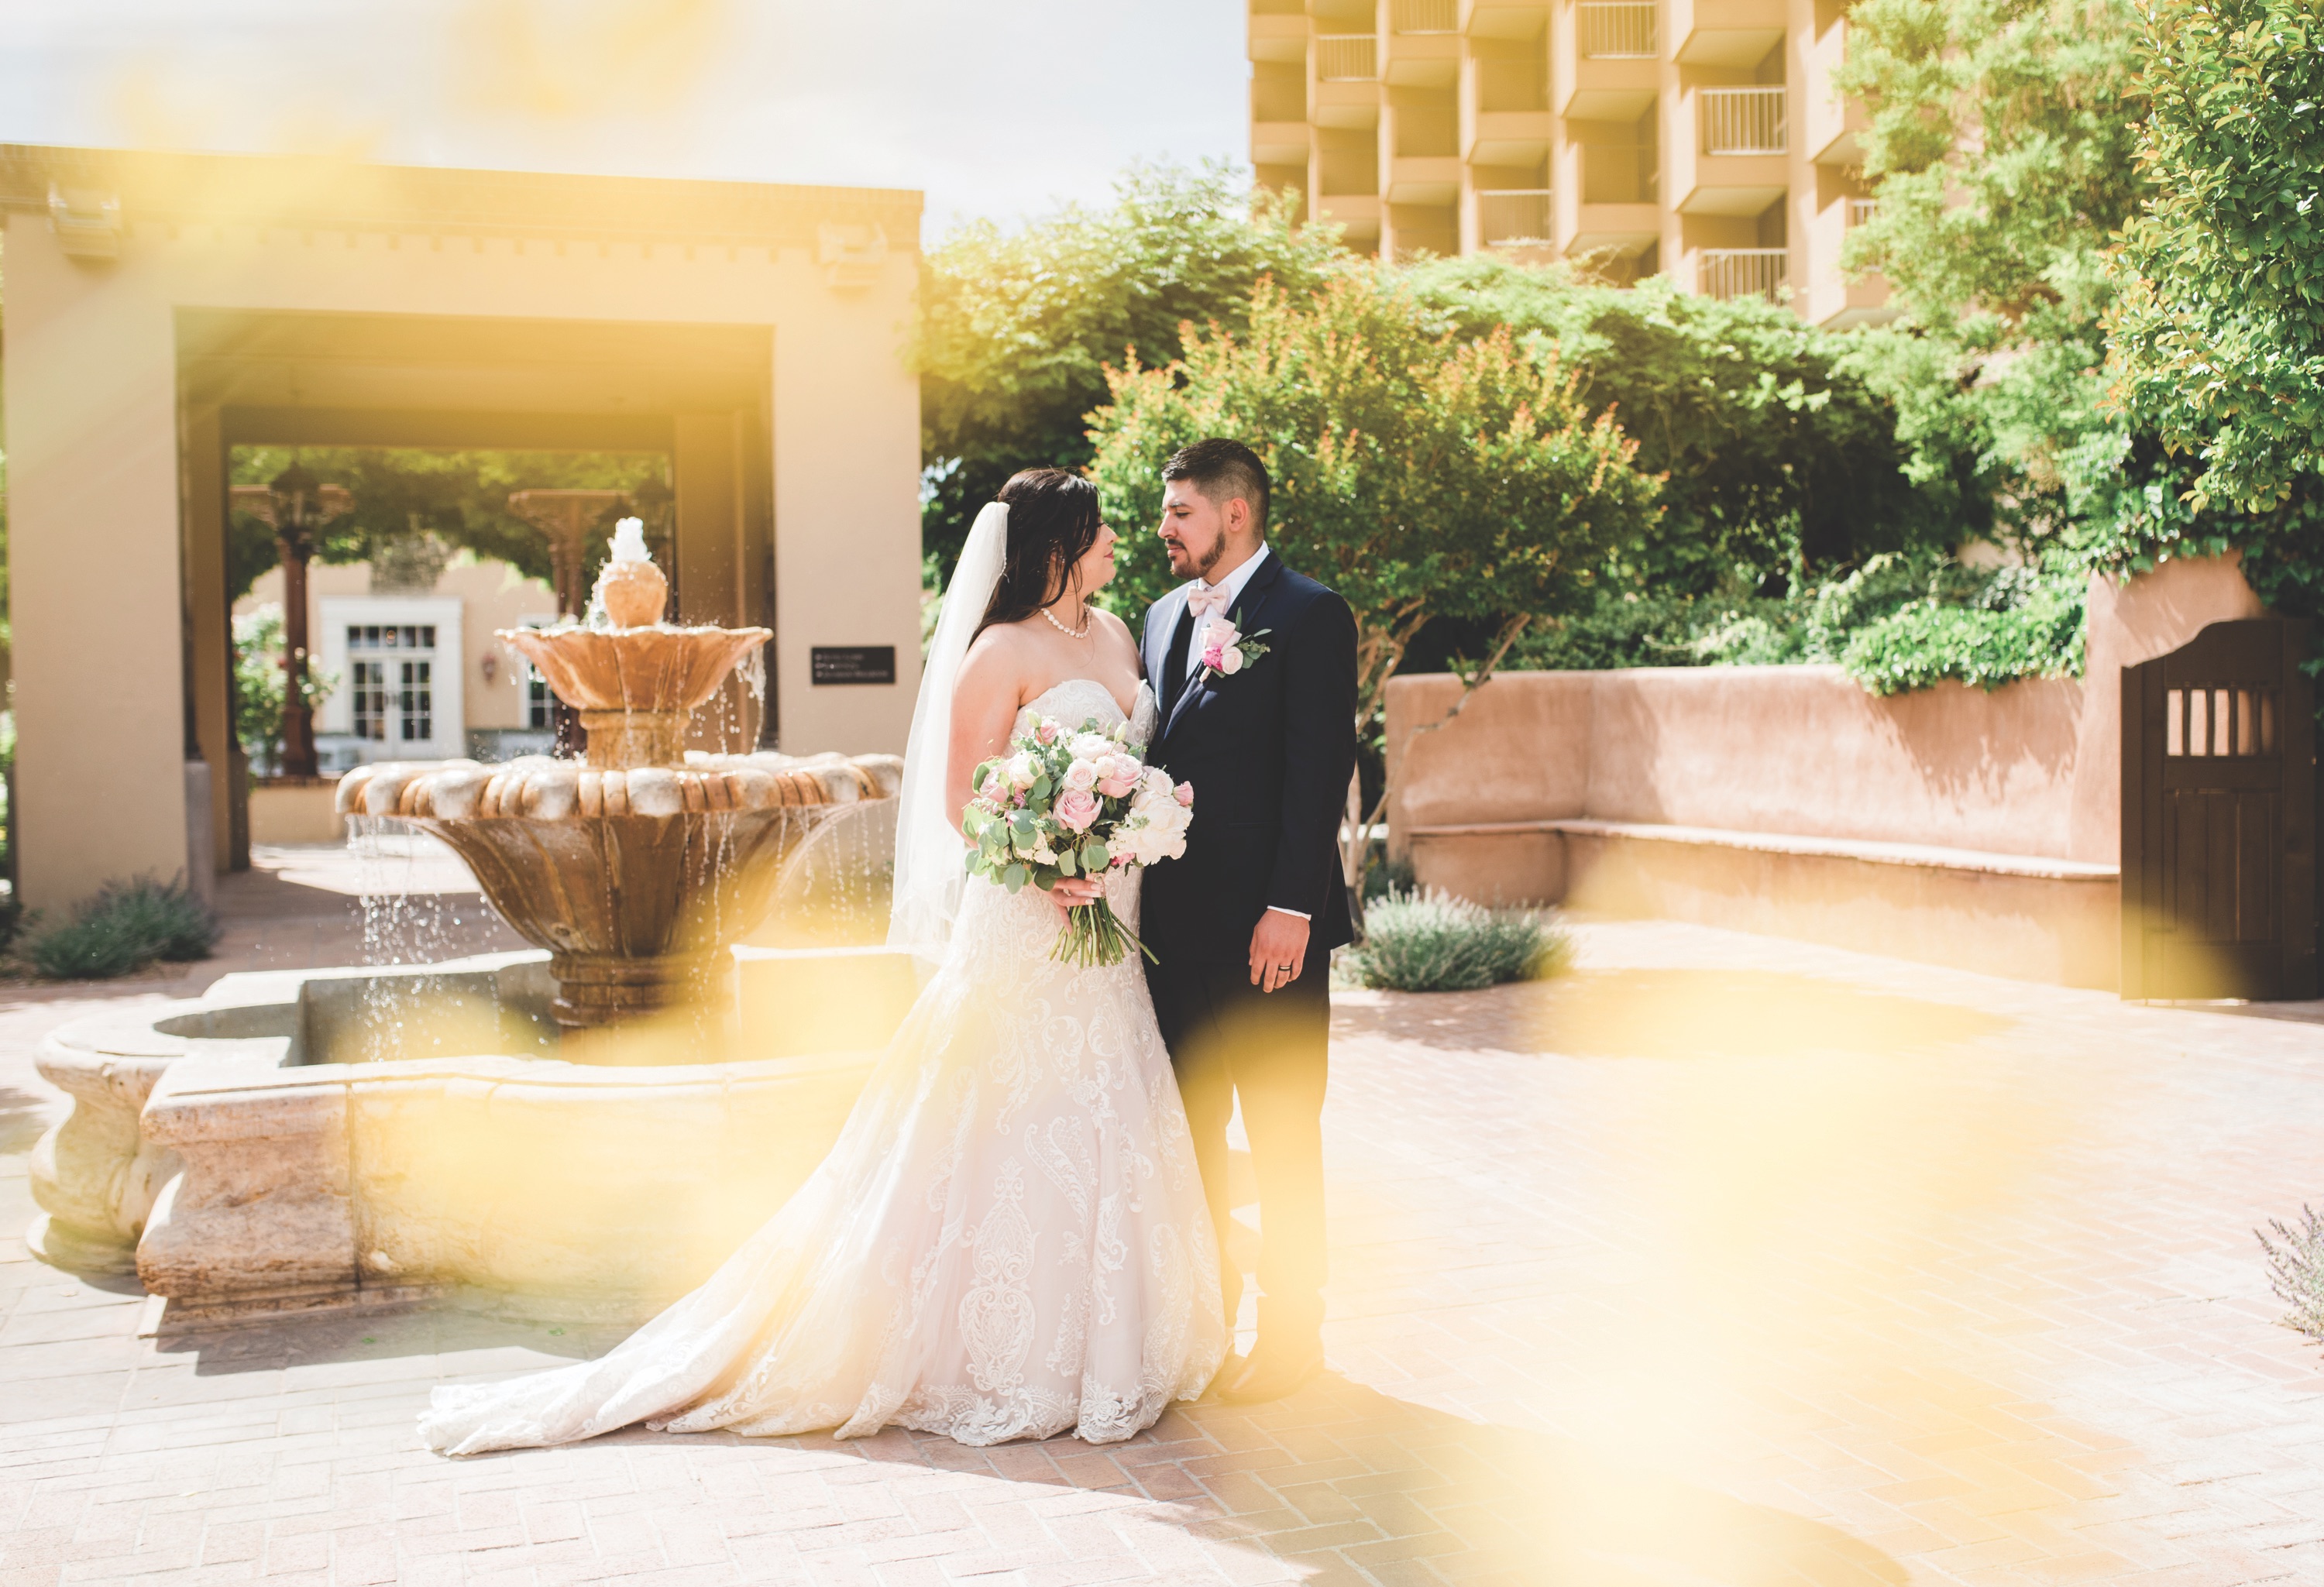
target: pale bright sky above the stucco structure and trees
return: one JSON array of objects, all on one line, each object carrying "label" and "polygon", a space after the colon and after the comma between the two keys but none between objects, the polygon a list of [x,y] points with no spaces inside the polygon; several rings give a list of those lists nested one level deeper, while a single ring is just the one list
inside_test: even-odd
[{"label": "pale bright sky above the stucco structure and trees", "polygon": [[0,142],[920,188],[1243,163],[1241,0],[0,0]]}]

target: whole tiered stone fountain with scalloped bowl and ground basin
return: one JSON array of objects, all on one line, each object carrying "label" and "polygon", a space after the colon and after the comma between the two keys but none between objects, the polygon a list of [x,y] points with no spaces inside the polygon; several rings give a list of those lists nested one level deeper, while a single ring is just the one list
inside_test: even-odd
[{"label": "whole tiered stone fountain with scalloped bowl and ground basin", "polygon": [[[892,809],[902,764],[686,751],[767,632],[672,627],[665,595],[632,520],[607,627],[502,634],[581,711],[586,762],[339,785],[349,816],[453,846],[544,953],[225,976],[56,1032],[40,1069],[74,1108],[35,1148],[35,1252],[135,1264],[193,1324],[444,1292],[637,1313],[790,1194],[909,1001],[909,957],[758,962],[737,1004],[730,946],[802,839]],[[651,1018],[676,1004],[693,1015]]]}]

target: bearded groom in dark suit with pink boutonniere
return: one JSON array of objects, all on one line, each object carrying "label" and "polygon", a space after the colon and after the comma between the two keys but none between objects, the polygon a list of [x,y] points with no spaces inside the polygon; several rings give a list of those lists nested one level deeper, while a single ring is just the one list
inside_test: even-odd
[{"label": "bearded groom in dark suit with pink boutonniere", "polygon": [[[1339,820],[1355,771],[1355,613],[1267,546],[1267,465],[1208,439],[1162,465],[1162,544],[1190,579],[1146,611],[1162,727],[1148,760],[1195,783],[1185,855],[1146,871],[1141,932],[1195,1159],[1225,1255],[1227,1120],[1243,1101],[1260,1187],[1260,1338],[1218,1378],[1227,1401],[1290,1394],[1322,1366],[1322,1087],[1332,948],[1350,939]],[[1204,662],[1213,623],[1241,662]]]}]

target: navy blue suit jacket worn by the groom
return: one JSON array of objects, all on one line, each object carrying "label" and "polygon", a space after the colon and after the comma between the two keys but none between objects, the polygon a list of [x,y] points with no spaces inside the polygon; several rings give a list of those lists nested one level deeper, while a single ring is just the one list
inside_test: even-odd
[{"label": "navy blue suit jacket worn by the groom", "polygon": [[[1146,609],[1155,690],[1192,586]],[[1164,964],[1248,962],[1271,906],[1311,918],[1308,953],[1350,941],[1339,827],[1355,774],[1355,613],[1269,553],[1227,613],[1267,655],[1234,676],[1190,665],[1146,757],[1195,783],[1185,855],[1146,871],[1139,934]]]}]

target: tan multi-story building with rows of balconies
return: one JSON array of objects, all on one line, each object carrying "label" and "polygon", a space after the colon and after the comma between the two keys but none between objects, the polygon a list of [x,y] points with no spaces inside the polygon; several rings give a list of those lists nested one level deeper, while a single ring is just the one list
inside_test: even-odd
[{"label": "tan multi-story building with rows of balconies", "polygon": [[1887,318],[1838,0],[1250,0],[1250,160],[1383,258],[1511,249]]}]

